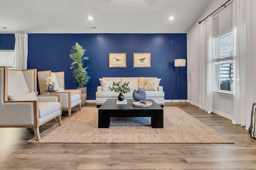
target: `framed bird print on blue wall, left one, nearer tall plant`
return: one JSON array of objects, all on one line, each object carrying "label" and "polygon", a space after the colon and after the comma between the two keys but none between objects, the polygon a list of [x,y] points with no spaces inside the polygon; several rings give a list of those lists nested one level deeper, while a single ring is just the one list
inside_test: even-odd
[{"label": "framed bird print on blue wall, left one, nearer tall plant", "polygon": [[108,53],[108,67],[126,68],[126,53]]}]

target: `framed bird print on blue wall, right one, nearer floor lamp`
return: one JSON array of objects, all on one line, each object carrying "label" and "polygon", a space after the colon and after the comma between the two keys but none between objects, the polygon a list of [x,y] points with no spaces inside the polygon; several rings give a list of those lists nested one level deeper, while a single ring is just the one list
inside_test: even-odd
[{"label": "framed bird print on blue wall, right one, nearer floor lamp", "polygon": [[150,53],[133,53],[133,67],[151,67]]}]

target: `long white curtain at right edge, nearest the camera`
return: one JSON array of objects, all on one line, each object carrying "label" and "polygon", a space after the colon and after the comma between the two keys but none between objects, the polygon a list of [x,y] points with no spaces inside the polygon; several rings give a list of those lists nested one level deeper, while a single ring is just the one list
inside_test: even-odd
[{"label": "long white curtain at right edge, nearest the camera", "polygon": [[234,119],[232,123],[250,125],[256,102],[256,0],[234,0]]}]

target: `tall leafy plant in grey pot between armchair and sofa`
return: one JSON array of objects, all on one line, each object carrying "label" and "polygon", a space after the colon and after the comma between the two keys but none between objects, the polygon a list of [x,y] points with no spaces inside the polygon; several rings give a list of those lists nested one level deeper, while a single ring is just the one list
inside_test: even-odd
[{"label": "tall leafy plant in grey pot between armchair and sofa", "polygon": [[72,46],[72,50],[70,53],[70,58],[73,59],[73,62],[71,63],[70,69],[73,70],[73,76],[74,76],[74,82],[78,83],[78,88],[82,91],[82,105],[86,102],[86,92],[87,87],[85,87],[85,84],[89,82],[90,76],[88,76],[86,69],[88,67],[84,67],[84,60],[88,60],[89,57],[84,57],[84,52],[86,49],[84,49],[79,43],[76,43],[75,46]]}]

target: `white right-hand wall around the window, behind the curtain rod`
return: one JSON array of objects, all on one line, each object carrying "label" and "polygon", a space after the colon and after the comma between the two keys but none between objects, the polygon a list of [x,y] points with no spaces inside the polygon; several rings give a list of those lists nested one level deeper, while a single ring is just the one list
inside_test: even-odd
[{"label": "white right-hand wall around the window, behind the curtain rod", "polygon": [[[200,96],[200,24],[206,16],[222,6],[227,0],[212,0],[206,10],[198,18],[198,21],[187,33],[187,69],[188,69],[188,102],[199,106]],[[231,3],[231,4],[230,4]],[[218,10],[214,16],[214,35],[232,29],[232,1],[228,6]],[[215,93],[213,95],[213,112],[229,119],[233,119],[233,97]]]}]

